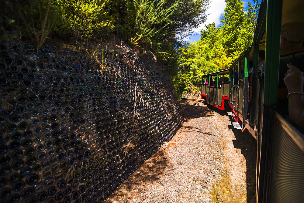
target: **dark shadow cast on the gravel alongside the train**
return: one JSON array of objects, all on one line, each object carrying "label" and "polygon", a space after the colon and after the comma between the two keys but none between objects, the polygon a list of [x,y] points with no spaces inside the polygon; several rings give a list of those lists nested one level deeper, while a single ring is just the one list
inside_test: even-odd
[{"label": "dark shadow cast on the gravel alongside the train", "polygon": [[[211,107],[210,110],[219,113],[220,115],[228,115],[230,110],[219,110]],[[235,122],[232,116],[229,116],[230,122]],[[235,140],[233,146],[236,149],[241,149],[241,153],[246,159],[246,182],[247,182],[247,202],[255,202],[255,181],[256,181],[256,160],[257,160],[257,142],[254,137],[248,132],[242,132],[240,129],[235,129],[233,125],[228,126],[234,133]]]}]

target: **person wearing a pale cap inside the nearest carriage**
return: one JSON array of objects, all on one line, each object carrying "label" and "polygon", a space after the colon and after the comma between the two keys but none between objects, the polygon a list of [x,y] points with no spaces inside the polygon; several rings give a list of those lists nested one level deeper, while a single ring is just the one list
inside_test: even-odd
[{"label": "person wearing a pale cap inside the nearest carriage", "polygon": [[292,63],[300,71],[304,71],[304,22],[285,23],[281,27],[279,87],[286,87],[284,74],[287,64]]}]

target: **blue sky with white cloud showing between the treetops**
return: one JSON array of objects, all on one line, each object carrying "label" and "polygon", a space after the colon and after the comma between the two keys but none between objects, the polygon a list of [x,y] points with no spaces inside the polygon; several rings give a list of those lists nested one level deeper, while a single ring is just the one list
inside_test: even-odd
[{"label": "blue sky with white cloud showing between the treetops", "polygon": [[[253,2],[252,0],[242,0],[244,2],[244,7],[248,7],[248,2]],[[225,0],[212,0],[210,3],[210,8],[207,10],[207,20],[204,24],[201,24],[198,28],[194,29],[193,31],[195,34],[189,37],[189,39],[185,39],[185,41],[188,42],[194,42],[199,40],[199,30],[205,29],[205,25],[208,25],[209,23],[215,22],[215,25],[218,27],[222,23],[220,20],[222,19],[222,15],[224,14],[224,9],[226,8]]]}]

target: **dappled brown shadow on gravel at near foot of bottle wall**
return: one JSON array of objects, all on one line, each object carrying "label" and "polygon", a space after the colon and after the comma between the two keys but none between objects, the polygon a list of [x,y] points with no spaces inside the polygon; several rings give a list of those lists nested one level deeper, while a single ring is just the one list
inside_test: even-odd
[{"label": "dappled brown shadow on gravel at near foot of bottle wall", "polygon": [[[132,176],[130,176],[126,182],[123,183],[127,191],[117,189],[111,195],[111,199],[124,196],[125,201],[128,201],[134,195],[136,195],[132,191],[136,191],[136,193],[144,193],[143,186],[147,184],[153,185],[154,182],[163,176],[165,168],[167,170],[170,169],[168,166],[167,154],[163,150],[159,150],[150,159],[145,161],[145,163],[140,166],[140,169],[137,170]],[[106,200],[105,202],[112,201]]]}]

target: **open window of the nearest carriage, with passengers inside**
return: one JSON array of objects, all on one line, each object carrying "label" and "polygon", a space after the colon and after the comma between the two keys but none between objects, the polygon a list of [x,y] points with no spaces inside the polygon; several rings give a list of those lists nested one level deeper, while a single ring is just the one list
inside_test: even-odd
[{"label": "open window of the nearest carriage, with passengers inside", "polygon": [[[302,11],[304,2],[283,3],[280,65],[278,81],[278,108],[298,124],[304,126],[304,17]],[[293,12],[291,12],[293,11]]]}]

